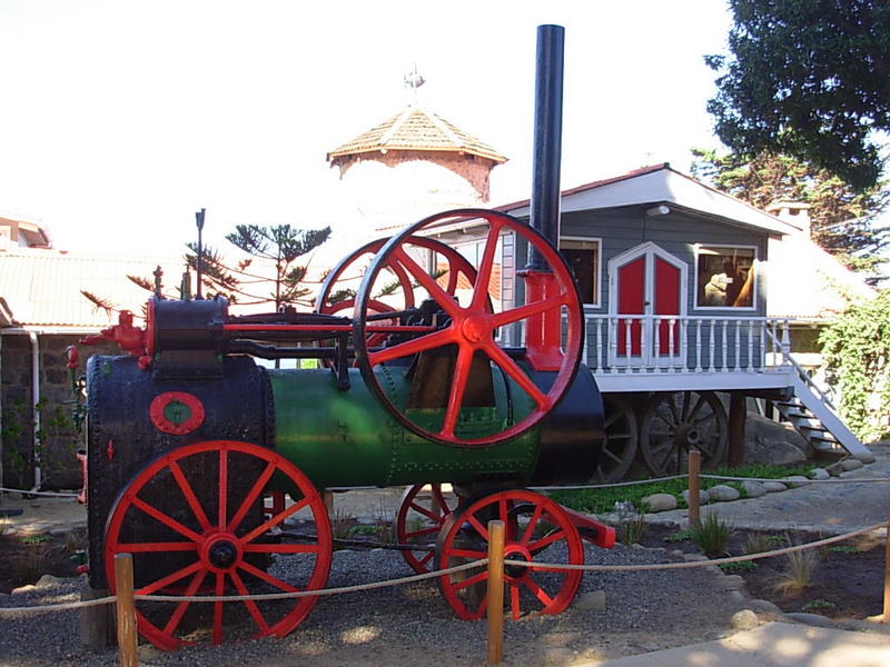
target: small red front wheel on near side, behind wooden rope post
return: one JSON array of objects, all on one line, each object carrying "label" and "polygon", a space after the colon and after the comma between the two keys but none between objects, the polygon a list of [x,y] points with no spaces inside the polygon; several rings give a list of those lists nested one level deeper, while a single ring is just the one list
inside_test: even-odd
[{"label": "small red front wheel on near side, behind wooden rope post", "polygon": [[[436,544],[438,569],[488,555],[488,521],[504,521],[504,554],[530,566],[506,566],[505,604],[515,620],[527,614],[560,614],[574,599],[582,570],[547,568],[543,564],[583,565],[584,545],[577,528],[558,504],[525,489],[500,491],[468,504],[445,521]],[[534,565],[534,563],[542,565]],[[459,618],[482,618],[488,606],[482,586],[486,566],[443,575],[439,588]]]}]

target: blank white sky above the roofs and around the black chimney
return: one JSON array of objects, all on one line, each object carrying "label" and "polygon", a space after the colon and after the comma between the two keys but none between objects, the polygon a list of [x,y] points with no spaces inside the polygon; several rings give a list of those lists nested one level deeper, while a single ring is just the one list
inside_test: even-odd
[{"label": "blank white sky above the roofs and around the black chimney", "polygon": [[201,207],[220,248],[336,223],[325,155],[405,107],[415,62],[421,103],[511,159],[493,203],[525,198],[542,23],[565,27],[564,188],[719,146],[723,0],[0,0],[0,215],[168,255]]}]

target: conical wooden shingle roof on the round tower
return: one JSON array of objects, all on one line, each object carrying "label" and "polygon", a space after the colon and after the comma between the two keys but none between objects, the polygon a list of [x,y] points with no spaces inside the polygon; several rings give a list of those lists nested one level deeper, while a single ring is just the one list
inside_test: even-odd
[{"label": "conical wooden shingle roof on the round tower", "polygon": [[369,129],[327,153],[328,162],[339,158],[389,150],[461,152],[478,156],[498,165],[506,158],[487,143],[467,135],[447,120],[421,107],[400,113]]}]

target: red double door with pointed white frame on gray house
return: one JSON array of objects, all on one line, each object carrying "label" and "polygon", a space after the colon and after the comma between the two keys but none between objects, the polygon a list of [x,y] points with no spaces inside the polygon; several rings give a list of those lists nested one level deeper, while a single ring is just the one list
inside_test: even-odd
[{"label": "red double door with pointed white frame on gray house", "polygon": [[[643,364],[657,357],[676,356],[682,349],[680,321],[653,316],[681,315],[685,289],[680,260],[647,243],[634,257],[619,263],[613,272],[616,289],[616,337],[619,357],[639,358]],[[673,335],[671,329],[673,329]],[[655,332],[657,331],[657,347]],[[645,341],[645,342],[644,342]]]}]

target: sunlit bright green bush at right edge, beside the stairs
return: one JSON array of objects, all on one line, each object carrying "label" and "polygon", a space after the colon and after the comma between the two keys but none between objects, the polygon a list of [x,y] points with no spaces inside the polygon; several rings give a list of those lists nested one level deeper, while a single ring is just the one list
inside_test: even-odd
[{"label": "sunlit bright green bush at right edge, beside the stairs", "polygon": [[819,336],[825,377],[860,440],[887,430],[890,414],[890,291],[851,303]]}]

